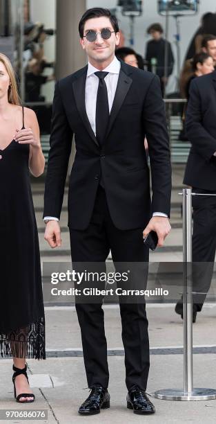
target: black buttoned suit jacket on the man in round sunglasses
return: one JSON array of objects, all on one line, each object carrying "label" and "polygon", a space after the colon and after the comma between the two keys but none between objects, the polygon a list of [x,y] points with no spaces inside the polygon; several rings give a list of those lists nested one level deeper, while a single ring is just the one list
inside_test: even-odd
[{"label": "black buttoned suit jacket on the man in round sunglasses", "polygon": [[75,134],[76,155],[68,193],[69,227],[88,227],[101,174],[115,226],[144,227],[151,213],[145,134],[152,170],[152,211],[170,213],[170,151],[159,79],[121,61],[106,140],[100,148],[86,114],[86,73],[87,66],[63,78],[55,87],[43,217],[60,216]]}]

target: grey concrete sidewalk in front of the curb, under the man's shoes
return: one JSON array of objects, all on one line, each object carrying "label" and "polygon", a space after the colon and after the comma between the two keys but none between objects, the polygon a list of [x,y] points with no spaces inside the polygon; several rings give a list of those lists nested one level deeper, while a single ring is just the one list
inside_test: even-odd
[{"label": "grey concrete sidewalk in front of the curb, under the man's shoes", "polygon": [[[216,400],[201,402],[177,402],[170,400],[158,400],[152,397],[155,389],[170,387],[182,387],[182,357],[180,355],[153,355],[151,357],[150,375],[148,380],[148,394],[150,400],[156,407],[156,414],[152,416],[137,416],[126,408],[126,387],[124,385],[124,357],[109,357],[110,369],[110,409],[102,410],[101,414],[82,417],[77,414],[79,405],[88,397],[86,379],[84,377],[84,366],[82,357],[72,358],[50,358],[46,362],[28,361],[32,382],[35,380],[35,403],[22,407],[12,400],[11,363],[8,360],[1,361],[1,384],[0,396],[1,409],[47,409],[48,424],[70,424],[70,423],[113,423],[141,424],[148,423],[181,424],[195,422],[197,424],[215,423]],[[195,378],[195,387],[216,387],[213,384],[213,366],[215,355],[196,355],[195,367],[202,369],[202,376]],[[41,373],[50,377],[46,385],[37,384]],[[215,380],[214,380],[215,381]],[[34,384],[32,384],[32,387]],[[39,387],[38,387],[39,386]],[[44,387],[45,386],[45,387]],[[6,421],[4,421],[6,422]],[[31,423],[16,419],[16,423]],[[41,421],[35,420],[36,423]]]}]

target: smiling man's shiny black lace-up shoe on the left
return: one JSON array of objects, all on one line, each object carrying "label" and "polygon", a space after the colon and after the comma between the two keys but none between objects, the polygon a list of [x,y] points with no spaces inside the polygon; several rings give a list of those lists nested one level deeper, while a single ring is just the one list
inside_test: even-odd
[{"label": "smiling man's shiny black lace-up shoe on the left", "polygon": [[85,400],[84,403],[81,404],[79,408],[79,414],[82,415],[93,415],[99,414],[101,409],[106,409],[110,407],[110,394],[107,389],[104,387],[92,387],[90,395]]}]

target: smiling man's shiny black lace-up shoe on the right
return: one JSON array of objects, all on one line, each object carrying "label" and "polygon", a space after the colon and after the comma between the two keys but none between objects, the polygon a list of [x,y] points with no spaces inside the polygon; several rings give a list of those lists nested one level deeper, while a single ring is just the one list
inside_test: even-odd
[{"label": "smiling man's shiny black lace-up shoe on the right", "polygon": [[132,387],[127,395],[127,407],[133,409],[135,414],[154,414],[155,407],[150,402],[146,392],[138,386]]}]

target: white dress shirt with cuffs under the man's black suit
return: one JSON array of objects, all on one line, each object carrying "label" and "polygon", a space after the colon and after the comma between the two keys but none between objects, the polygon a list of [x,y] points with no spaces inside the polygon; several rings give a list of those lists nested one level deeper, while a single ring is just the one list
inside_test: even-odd
[{"label": "white dress shirt with cuffs under the man's black suit", "polygon": [[[108,72],[108,75],[104,78],[106,82],[106,88],[108,93],[108,103],[109,103],[109,111],[112,109],[112,103],[115,98],[115,91],[117,88],[117,82],[119,79],[119,71],[121,68],[121,63],[117,60],[116,56],[112,60],[112,62],[103,69],[103,72]],[[85,89],[85,103],[86,103],[86,114],[88,116],[88,121],[92,127],[93,132],[96,135],[96,101],[97,101],[97,89],[99,85],[99,78],[95,75],[95,72],[99,71],[99,69],[95,68],[88,62],[88,70],[86,76],[86,89]],[[163,212],[154,212],[153,216],[165,216],[166,213]],[[58,218],[52,216],[46,216],[43,220],[55,220],[58,221]]]}]

